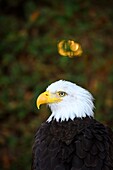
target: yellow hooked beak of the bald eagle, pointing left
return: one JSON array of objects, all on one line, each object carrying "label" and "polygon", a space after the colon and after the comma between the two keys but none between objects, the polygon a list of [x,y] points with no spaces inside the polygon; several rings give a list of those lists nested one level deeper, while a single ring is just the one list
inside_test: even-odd
[{"label": "yellow hooked beak of the bald eagle, pointing left", "polygon": [[57,94],[51,94],[49,91],[45,91],[39,95],[36,100],[36,105],[39,109],[41,104],[49,104],[60,102],[62,99],[57,96]]}]

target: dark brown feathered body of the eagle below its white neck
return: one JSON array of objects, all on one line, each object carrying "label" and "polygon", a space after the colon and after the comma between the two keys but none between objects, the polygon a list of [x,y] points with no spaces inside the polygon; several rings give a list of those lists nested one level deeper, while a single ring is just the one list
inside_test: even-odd
[{"label": "dark brown feathered body of the eagle below its white neck", "polygon": [[93,118],[43,123],[32,170],[113,170],[113,132]]}]

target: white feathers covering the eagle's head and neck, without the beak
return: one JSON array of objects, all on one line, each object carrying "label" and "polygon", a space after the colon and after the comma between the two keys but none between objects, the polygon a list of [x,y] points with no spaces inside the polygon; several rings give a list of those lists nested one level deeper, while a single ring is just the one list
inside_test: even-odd
[{"label": "white feathers covering the eagle's head and neck, without the beak", "polygon": [[66,92],[67,95],[58,103],[48,104],[52,114],[48,122],[53,119],[56,121],[68,121],[74,118],[93,117],[93,96],[86,89],[65,80],[59,80],[52,83],[47,91],[56,93],[58,91]]}]

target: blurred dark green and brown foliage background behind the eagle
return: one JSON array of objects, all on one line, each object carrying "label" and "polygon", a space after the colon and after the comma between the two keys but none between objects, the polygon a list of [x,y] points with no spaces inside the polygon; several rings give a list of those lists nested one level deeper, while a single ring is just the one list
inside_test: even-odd
[{"label": "blurred dark green and brown foliage background behind the eagle", "polygon": [[[28,170],[34,134],[49,111],[35,101],[58,79],[87,88],[95,116],[113,128],[113,1],[0,1],[0,170]],[[73,39],[83,55],[61,57]]]}]

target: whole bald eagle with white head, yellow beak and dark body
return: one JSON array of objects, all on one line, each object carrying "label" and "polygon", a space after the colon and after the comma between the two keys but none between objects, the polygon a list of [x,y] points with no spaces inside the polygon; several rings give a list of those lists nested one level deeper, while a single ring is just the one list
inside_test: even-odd
[{"label": "whole bald eagle with white head, yellow beak and dark body", "polygon": [[94,119],[92,95],[64,80],[37,98],[51,116],[38,129],[32,170],[113,170],[113,132]]}]

